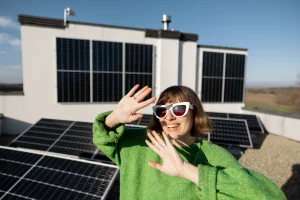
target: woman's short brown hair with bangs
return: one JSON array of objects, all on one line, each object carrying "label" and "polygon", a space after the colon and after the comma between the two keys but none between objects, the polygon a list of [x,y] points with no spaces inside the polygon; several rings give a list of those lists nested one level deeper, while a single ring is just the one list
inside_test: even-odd
[{"label": "woman's short brown hair with bangs", "polygon": [[[194,123],[191,130],[192,136],[200,137],[211,131],[211,122],[203,110],[199,97],[192,89],[186,86],[178,85],[168,87],[160,94],[156,105],[164,105],[166,103],[174,103],[177,101],[190,102],[194,107]],[[154,114],[152,115],[152,119],[147,127],[147,130],[162,132],[162,127],[160,125],[159,119],[157,119]]]}]

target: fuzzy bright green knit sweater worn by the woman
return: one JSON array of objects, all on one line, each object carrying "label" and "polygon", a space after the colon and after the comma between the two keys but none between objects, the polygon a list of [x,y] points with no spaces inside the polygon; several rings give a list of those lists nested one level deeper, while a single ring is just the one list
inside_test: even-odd
[{"label": "fuzzy bright green knit sweater worn by the woman", "polygon": [[177,148],[181,157],[198,167],[199,183],[171,177],[148,166],[161,158],[145,143],[146,130],[112,130],[104,126],[111,111],[98,115],[93,126],[93,141],[120,168],[122,200],[189,199],[286,199],[270,180],[241,166],[225,149],[207,141]]}]

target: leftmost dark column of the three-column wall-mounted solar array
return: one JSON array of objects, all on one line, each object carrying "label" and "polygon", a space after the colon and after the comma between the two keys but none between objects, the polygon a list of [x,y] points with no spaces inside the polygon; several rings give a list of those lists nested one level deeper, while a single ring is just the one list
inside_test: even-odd
[{"label": "leftmost dark column of the three-column wall-mounted solar array", "polygon": [[58,102],[90,102],[90,43],[57,38]]}]

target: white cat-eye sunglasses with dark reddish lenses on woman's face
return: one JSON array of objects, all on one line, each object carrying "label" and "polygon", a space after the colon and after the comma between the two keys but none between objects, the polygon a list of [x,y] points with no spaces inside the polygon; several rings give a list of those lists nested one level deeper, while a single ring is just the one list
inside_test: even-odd
[{"label": "white cat-eye sunglasses with dark reddish lenses on woman's face", "polygon": [[167,116],[168,110],[171,110],[175,117],[184,117],[189,109],[194,109],[190,102],[179,102],[172,105],[156,105],[152,107],[155,117],[163,119]]}]

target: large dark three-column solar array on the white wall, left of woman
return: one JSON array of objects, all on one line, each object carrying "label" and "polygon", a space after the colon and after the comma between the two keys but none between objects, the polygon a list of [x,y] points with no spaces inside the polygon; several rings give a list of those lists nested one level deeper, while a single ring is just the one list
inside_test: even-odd
[{"label": "large dark three-column solar array on the white wall, left of woman", "polygon": [[153,86],[152,45],[91,44],[56,39],[58,102],[118,102],[136,83]]}]

